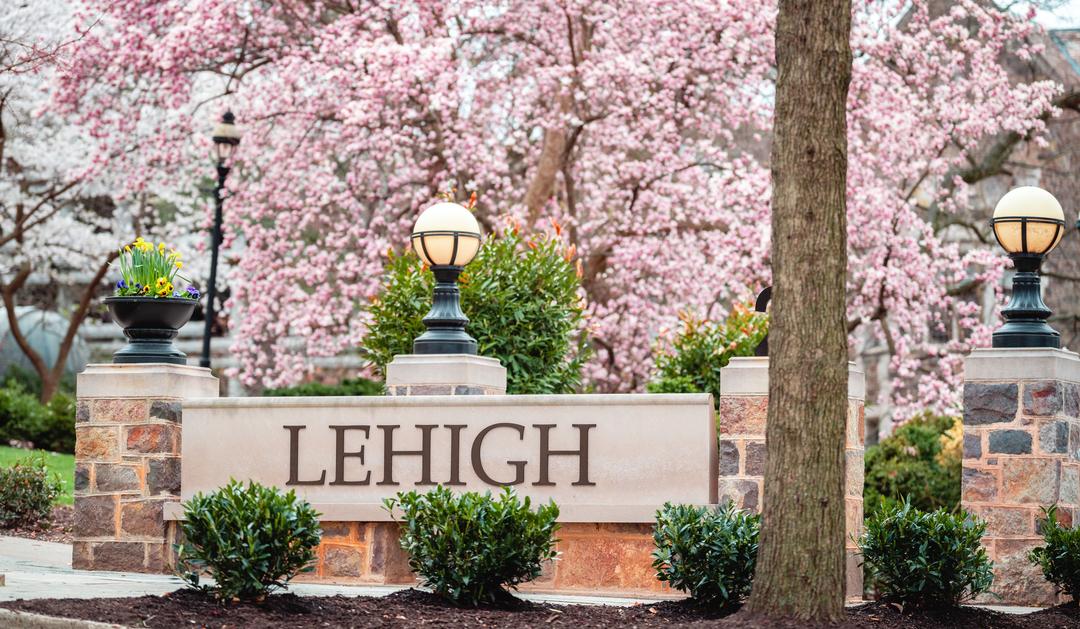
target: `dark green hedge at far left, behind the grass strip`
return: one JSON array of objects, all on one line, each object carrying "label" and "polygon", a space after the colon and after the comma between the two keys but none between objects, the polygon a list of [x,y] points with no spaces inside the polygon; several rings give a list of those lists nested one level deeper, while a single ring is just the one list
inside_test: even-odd
[{"label": "dark green hedge at far left, behind the grass strip", "polygon": [[28,441],[39,450],[75,452],[75,399],[57,391],[48,404],[9,380],[0,387],[0,443]]}]

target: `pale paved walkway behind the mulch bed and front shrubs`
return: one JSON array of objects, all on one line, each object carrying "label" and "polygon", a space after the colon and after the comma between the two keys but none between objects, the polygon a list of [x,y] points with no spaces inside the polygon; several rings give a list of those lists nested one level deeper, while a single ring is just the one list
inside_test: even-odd
[{"label": "pale paved walkway behind the mulch bed and front shrubs", "polygon": [[[184,581],[166,575],[123,572],[86,572],[71,568],[71,546],[54,541],[35,541],[0,536],[0,601],[16,599],[97,599],[163,594],[184,587]],[[327,586],[293,584],[288,590],[301,597],[384,597],[404,589],[401,586]],[[528,601],[558,604],[633,605],[652,602],[646,599],[581,597],[518,592]],[[989,610],[1027,614],[1038,607],[986,605]]]}]

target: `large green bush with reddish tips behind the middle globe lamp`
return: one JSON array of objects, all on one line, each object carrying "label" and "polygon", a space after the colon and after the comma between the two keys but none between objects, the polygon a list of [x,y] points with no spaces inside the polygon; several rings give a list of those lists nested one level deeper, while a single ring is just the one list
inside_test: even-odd
[{"label": "large green bush with reddish tips behind the middle globe lamp", "polygon": [[[566,393],[580,386],[588,358],[584,304],[573,253],[562,241],[516,231],[489,237],[459,282],[465,330],[481,356],[507,367],[509,393]],[[390,255],[364,338],[380,373],[395,354],[413,352],[433,285],[416,254]]]}]

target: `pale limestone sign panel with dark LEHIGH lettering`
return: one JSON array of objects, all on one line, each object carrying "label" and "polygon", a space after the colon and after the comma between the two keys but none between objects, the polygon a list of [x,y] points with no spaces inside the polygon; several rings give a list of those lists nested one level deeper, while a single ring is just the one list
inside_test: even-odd
[{"label": "pale limestone sign panel with dark LEHIGH lettering", "polygon": [[184,499],[251,479],[296,490],[324,520],[388,520],[382,498],[437,484],[513,486],[555,499],[566,522],[716,503],[707,394],[187,400],[183,457]]}]

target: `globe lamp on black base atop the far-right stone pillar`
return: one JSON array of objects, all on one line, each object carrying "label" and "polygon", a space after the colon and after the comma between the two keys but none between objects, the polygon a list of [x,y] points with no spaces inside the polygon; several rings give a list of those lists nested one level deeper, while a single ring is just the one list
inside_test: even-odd
[{"label": "globe lamp on black base atop the far-right stone pillar", "polygon": [[1034,186],[1014,188],[998,201],[990,220],[994,236],[1013,260],[1016,275],[1004,325],[994,331],[994,347],[1057,347],[1062,335],[1047,319],[1039,267],[1065,233],[1065,213],[1050,192]]}]

